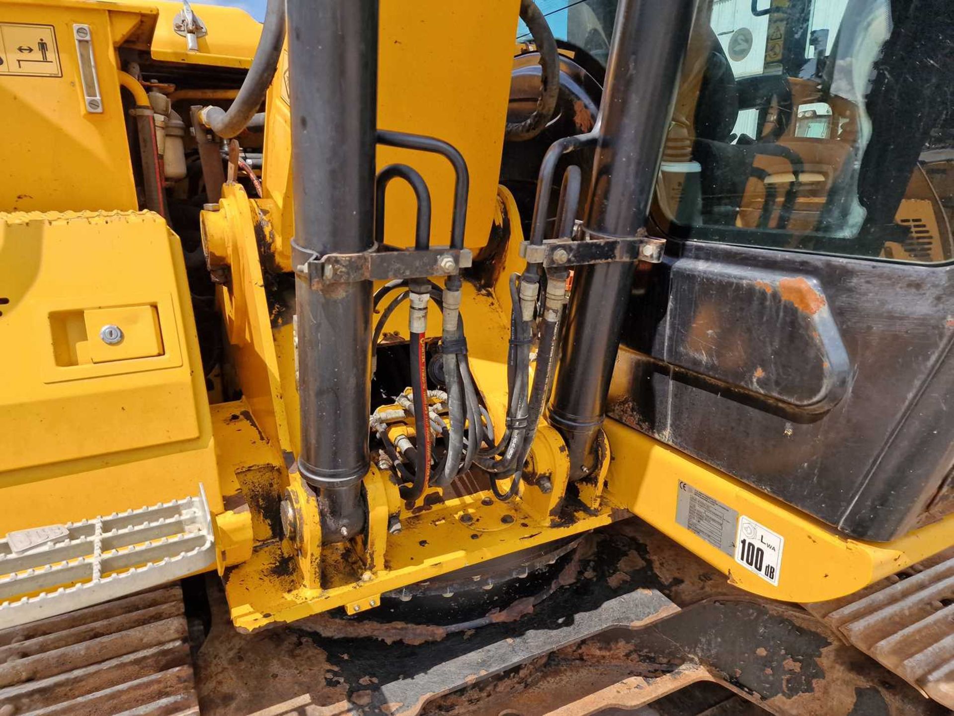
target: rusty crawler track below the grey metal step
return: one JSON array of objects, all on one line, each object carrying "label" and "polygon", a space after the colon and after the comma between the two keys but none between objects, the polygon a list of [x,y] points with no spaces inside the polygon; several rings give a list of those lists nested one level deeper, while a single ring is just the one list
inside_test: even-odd
[{"label": "rusty crawler track below the grey metal step", "polygon": [[0,631],[0,713],[198,714],[178,585]]}]

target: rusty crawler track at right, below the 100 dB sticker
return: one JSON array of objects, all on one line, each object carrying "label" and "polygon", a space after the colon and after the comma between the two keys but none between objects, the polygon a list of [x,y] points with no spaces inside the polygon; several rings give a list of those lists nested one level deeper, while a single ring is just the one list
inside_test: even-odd
[{"label": "rusty crawler track at right, below the 100 dB sticker", "polygon": [[954,551],[842,600],[808,604],[848,642],[954,708]]}]

